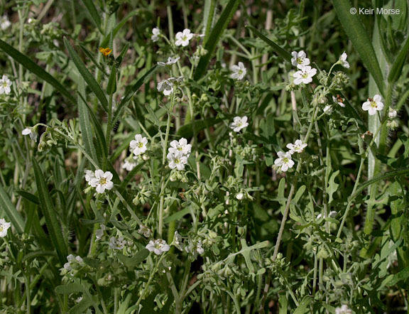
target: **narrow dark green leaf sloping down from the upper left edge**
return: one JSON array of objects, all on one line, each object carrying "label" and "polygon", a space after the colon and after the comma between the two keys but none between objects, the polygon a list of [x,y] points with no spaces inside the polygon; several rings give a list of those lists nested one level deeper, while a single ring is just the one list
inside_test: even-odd
[{"label": "narrow dark green leaf sloping down from the upper left edge", "polygon": [[30,58],[26,57],[26,55],[23,55],[23,53],[20,53],[18,50],[14,49],[6,43],[5,41],[0,39],[0,49],[3,50],[5,53],[7,53],[11,58],[16,60],[18,63],[23,65],[23,67],[30,71],[33,72],[33,74],[37,75],[40,77],[40,79],[45,80],[45,82],[48,82],[51,86],[55,88],[55,90],[58,90],[61,94],[63,94],[67,99],[70,100],[73,104],[75,104],[75,98],[72,97],[72,94],[68,92],[65,87],[63,87],[58,80],[55,80],[55,78],[50,75],[50,73],[46,72],[43,70],[40,65],[35,63],[33,60]]}]

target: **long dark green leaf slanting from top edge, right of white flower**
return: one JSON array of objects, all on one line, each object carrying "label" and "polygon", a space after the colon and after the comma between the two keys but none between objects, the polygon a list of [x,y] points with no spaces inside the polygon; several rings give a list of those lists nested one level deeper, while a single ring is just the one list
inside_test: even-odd
[{"label": "long dark green leaf slanting from top edge, right of white flower", "polygon": [[224,8],[222,14],[220,15],[219,20],[217,20],[216,25],[212,29],[209,40],[207,40],[205,44],[205,50],[207,50],[207,54],[200,58],[199,64],[197,65],[197,68],[195,70],[194,78],[196,81],[205,74],[207,65],[209,65],[210,62],[210,58],[212,58],[214,50],[216,49],[216,45],[217,43],[219,43],[220,36],[222,36],[222,33],[229,25],[229,22],[233,17],[237,6],[239,6],[239,3],[239,0],[230,0],[227,6]]}]

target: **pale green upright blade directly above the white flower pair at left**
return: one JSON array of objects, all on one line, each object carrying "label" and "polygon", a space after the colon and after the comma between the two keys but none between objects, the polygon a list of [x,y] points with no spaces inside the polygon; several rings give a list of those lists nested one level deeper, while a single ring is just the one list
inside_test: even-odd
[{"label": "pale green upright blade directly above the white flower pair at left", "polygon": [[92,127],[89,120],[87,104],[85,104],[80,94],[85,94],[85,83],[82,77],[78,85],[78,116],[80,118],[80,129],[82,141],[84,142],[85,151],[91,156],[94,161],[98,161],[97,151],[95,151],[94,142],[92,141]]}]

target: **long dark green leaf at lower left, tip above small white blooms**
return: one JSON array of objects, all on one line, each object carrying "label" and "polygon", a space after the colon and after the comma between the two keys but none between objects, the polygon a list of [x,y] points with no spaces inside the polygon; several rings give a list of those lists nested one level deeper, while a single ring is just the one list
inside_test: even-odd
[{"label": "long dark green leaf at lower left, tip above small white blooms", "polygon": [[36,185],[38,189],[38,198],[40,199],[40,208],[45,217],[48,232],[50,232],[51,241],[57,251],[61,264],[67,261],[67,247],[64,237],[62,236],[61,226],[58,223],[55,207],[51,203],[50,194],[48,193],[47,184],[40,166],[35,158],[33,158],[34,176],[36,177]]}]

